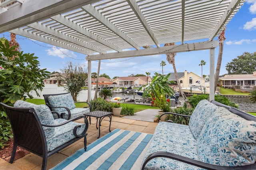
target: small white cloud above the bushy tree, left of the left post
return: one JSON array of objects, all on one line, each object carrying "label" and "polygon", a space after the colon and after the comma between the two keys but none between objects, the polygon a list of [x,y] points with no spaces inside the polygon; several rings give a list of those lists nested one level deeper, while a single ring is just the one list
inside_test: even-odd
[{"label": "small white cloud above the bushy tree, left of the left post", "polygon": [[73,51],[70,51],[68,49],[62,49],[62,48],[54,48],[52,47],[51,49],[46,50],[47,55],[53,55],[60,57],[62,59],[66,57],[71,57],[71,58],[76,58],[77,56],[74,54]]}]

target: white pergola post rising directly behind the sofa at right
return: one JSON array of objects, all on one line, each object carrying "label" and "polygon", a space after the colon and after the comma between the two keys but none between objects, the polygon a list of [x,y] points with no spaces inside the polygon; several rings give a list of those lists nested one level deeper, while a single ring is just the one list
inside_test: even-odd
[{"label": "white pergola post rising directly behind the sofa at right", "polygon": [[214,48],[210,48],[210,101],[214,100]]}]

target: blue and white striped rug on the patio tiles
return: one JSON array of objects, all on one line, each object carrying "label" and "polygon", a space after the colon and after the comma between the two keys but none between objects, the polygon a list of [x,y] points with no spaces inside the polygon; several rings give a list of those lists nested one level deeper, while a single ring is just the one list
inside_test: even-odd
[{"label": "blue and white striped rug on the patio tiles", "polygon": [[51,170],[139,170],[152,136],[115,129]]}]

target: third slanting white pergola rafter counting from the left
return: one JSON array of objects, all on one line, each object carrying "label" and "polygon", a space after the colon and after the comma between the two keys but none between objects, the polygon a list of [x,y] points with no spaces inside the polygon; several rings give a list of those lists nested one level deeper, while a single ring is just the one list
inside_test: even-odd
[{"label": "third slanting white pergola rafter counting from the left", "polygon": [[[66,25],[67,27],[91,38],[91,39],[94,39],[95,41],[103,44],[103,45],[106,45],[110,48],[112,48],[113,50],[116,50],[118,52],[122,51],[122,49],[116,47],[115,45],[113,45],[112,43],[109,43],[108,41],[100,38],[99,36],[95,35],[94,33],[91,33],[90,31],[88,31],[87,29],[84,29],[83,27],[81,27],[80,25],[68,20],[67,18],[65,18],[64,16],[62,15],[57,15],[57,16],[53,16],[51,17],[52,20],[55,20],[57,21],[58,23],[61,23],[63,25]],[[100,52],[102,53],[102,52]]]}]

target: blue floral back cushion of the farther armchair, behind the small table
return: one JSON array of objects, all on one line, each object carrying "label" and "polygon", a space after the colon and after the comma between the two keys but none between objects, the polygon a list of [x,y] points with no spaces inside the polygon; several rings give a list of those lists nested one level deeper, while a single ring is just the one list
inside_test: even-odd
[{"label": "blue floral back cushion of the farther armchair, behind the small table", "polygon": [[[49,96],[48,100],[49,104],[54,107],[68,107],[68,109],[70,110],[76,108],[76,105],[70,93]],[[53,108],[52,110],[57,112],[67,111],[65,108]]]}]

